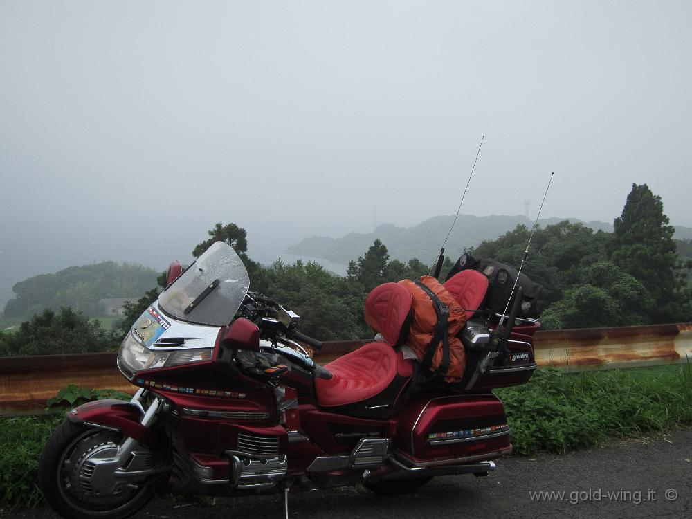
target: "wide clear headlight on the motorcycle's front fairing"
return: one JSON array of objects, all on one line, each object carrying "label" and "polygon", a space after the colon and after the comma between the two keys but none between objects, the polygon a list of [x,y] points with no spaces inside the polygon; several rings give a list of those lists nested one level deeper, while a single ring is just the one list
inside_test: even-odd
[{"label": "wide clear headlight on the motorcycle's front fairing", "polygon": [[120,345],[118,359],[131,372],[154,370],[156,367],[170,367],[201,361],[210,361],[212,348],[180,349],[178,351],[159,351],[144,347],[129,332]]}]

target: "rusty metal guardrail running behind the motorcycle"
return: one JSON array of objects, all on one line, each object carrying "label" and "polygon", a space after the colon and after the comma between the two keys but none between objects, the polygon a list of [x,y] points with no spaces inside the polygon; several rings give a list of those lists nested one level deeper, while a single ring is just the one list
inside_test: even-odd
[{"label": "rusty metal guardrail running behind the motorcycle", "polygon": [[[367,343],[325,343],[324,364]],[[569,372],[692,362],[692,323],[538,331],[536,363]],[[115,353],[0,358],[0,415],[43,412],[66,385],[134,392],[116,368]]]}]

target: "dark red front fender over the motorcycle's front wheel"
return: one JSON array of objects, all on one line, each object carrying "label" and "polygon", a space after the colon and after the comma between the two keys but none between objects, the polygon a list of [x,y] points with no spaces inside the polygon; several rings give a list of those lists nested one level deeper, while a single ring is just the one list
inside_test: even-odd
[{"label": "dark red front fender over the motorcycle's front wheel", "polygon": [[74,424],[118,430],[142,444],[148,444],[152,438],[152,430],[142,425],[142,410],[131,402],[95,400],[70,410],[66,417]]}]

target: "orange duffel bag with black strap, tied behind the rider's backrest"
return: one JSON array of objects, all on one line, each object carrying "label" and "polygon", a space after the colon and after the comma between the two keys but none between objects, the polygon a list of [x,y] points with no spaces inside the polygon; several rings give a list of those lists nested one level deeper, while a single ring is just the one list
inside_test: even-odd
[{"label": "orange duffel bag with black strap, tied behind the rider's backrest", "polygon": [[468,313],[435,277],[399,281],[413,296],[412,317],[406,344],[421,362],[421,373],[429,381],[459,382],[464,376],[466,355],[455,337],[464,327]]}]

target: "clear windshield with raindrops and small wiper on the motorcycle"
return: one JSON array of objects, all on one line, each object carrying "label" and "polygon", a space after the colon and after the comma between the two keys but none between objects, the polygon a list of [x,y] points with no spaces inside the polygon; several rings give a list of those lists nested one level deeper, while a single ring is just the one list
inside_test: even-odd
[{"label": "clear windshield with raindrops and small wiper on the motorcycle", "polygon": [[215,242],[158,296],[158,306],[176,319],[224,326],[249,289],[250,276],[237,253]]}]

